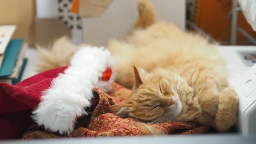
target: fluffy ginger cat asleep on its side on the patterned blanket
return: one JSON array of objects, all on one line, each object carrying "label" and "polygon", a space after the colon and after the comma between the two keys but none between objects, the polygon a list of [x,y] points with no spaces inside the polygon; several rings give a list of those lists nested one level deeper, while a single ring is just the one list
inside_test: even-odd
[{"label": "fluffy ginger cat asleep on its side on the patterned blanket", "polygon": [[150,123],[194,122],[228,131],[237,120],[238,97],[229,88],[216,45],[155,19],[149,0],[138,0],[138,11],[133,33],[109,43],[116,82],[133,88],[112,112]]}]

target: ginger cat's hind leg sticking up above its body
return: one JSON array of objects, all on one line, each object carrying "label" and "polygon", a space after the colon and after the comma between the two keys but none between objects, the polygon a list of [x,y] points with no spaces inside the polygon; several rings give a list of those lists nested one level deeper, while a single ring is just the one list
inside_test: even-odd
[{"label": "ginger cat's hind leg sticking up above its body", "polygon": [[139,16],[135,22],[135,29],[147,28],[155,22],[156,11],[150,0],[137,0]]}]

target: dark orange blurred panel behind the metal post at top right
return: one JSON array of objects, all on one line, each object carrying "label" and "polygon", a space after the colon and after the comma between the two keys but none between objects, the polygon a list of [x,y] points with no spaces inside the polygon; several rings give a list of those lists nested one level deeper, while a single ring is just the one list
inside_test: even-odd
[{"label": "dark orange blurred panel behind the metal post at top right", "polygon": [[[197,27],[219,41],[228,41],[230,34],[228,14],[231,11],[232,0],[194,0],[190,19]],[[256,32],[246,21],[242,12],[238,13],[238,24],[251,36],[256,37]],[[237,40],[246,37],[237,32]]]}]

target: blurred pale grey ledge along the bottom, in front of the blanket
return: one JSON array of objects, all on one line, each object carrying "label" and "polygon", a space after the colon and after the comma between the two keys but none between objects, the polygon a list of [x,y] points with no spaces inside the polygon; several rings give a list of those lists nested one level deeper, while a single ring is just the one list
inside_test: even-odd
[{"label": "blurred pale grey ledge along the bottom, in front of the blanket", "polygon": [[198,134],[144,137],[97,137],[80,139],[32,139],[3,141],[4,144],[255,144],[256,135]]}]

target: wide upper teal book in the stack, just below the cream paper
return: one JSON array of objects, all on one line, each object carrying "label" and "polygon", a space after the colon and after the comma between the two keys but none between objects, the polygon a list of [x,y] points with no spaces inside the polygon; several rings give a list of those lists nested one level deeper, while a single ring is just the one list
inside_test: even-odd
[{"label": "wide upper teal book in the stack, just below the cream paper", "polygon": [[11,75],[22,45],[23,39],[13,39],[10,41],[5,50],[2,67],[0,69],[0,77]]}]

